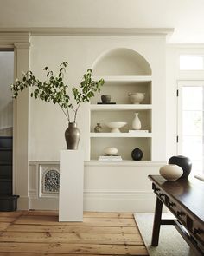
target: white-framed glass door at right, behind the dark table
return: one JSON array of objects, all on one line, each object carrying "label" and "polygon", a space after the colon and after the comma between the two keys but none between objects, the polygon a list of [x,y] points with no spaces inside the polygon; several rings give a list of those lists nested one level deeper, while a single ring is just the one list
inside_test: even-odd
[{"label": "white-framed glass door at right, behind the dark table", "polygon": [[194,174],[204,173],[204,81],[178,82],[178,154],[191,159]]}]

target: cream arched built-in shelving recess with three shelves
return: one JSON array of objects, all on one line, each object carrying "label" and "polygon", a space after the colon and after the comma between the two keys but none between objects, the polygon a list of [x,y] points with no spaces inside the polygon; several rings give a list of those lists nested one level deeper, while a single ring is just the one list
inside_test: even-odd
[{"label": "cream arched built-in shelving recess with three shelves", "polygon": [[[124,161],[131,160],[131,151],[141,148],[143,161],[151,161],[152,133],[152,75],[149,63],[131,49],[113,49],[99,58],[93,67],[94,80],[101,77],[105,84],[101,93],[92,98],[90,104],[90,160],[98,160],[104,148],[118,148]],[[130,93],[145,93],[140,104],[132,104]],[[111,102],[116,104],[97,104],[101,95],[111,95]],[[135,113],[139,113],[142,130],[148,132],[130,133]],[[127,124],[120,133],[111,133],[105,123],[125,121]],[[101,133],[94,133],[97,123],[102,126]]]}]

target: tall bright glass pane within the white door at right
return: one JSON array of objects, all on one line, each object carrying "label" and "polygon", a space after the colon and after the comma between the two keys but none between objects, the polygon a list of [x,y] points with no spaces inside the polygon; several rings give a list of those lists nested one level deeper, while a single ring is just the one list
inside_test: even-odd
[{"label": "tall bright glass pane within the white door at right", "polygon": [[182,86],[182,154],[193,163],[193,171],[203,172],[203,87]]}]

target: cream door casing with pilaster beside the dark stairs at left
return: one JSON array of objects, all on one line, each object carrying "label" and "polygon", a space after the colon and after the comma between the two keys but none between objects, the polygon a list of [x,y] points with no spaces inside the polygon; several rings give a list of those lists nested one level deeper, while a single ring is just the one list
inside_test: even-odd
[{"label": "cream door casing with pilaster beside the dark stairs at left", "polygon": [[[14,50],[14,77],[29,69],[29,33],[0,32],[0,49]],[[18,209],[29,209],[29,89],[13,102],[13,194]]]}]

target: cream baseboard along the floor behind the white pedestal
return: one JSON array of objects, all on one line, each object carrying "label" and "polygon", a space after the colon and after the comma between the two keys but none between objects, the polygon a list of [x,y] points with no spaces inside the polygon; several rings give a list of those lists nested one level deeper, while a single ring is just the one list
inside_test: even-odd
[{"label": "cream baseboard along the floor behind the white pedestal", "polygon": [[[154,213],[155,195],[145,191],[85,191],[84,211]],[[58,198],[29,198],[29,208],[57,210]]]}]

